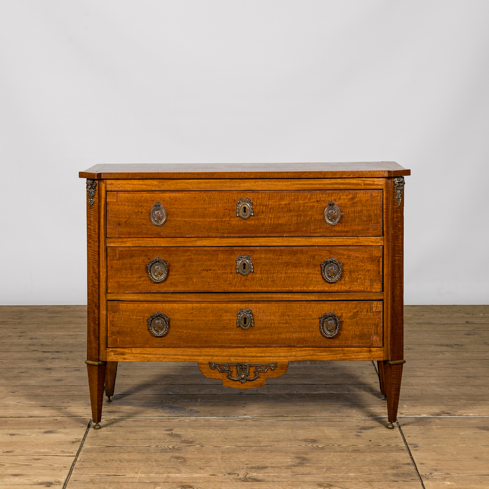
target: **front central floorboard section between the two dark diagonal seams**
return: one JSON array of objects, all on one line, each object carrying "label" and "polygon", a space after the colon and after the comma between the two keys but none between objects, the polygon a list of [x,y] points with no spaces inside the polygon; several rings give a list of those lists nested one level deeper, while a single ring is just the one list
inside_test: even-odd
[{"label": "front central floorboard section between the two dark diagonal seams", "polygon": [[344,488],[361,481],[399,488],[402,480],[419,488],[399,432],[379,421],[108,419],[100,433],[89,433],[68,487],[123,480],[132,487]]}]

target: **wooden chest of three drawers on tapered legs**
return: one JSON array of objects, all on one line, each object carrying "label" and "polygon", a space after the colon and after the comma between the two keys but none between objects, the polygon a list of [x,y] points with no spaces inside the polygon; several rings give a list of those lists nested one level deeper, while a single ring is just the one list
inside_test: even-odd
[{"label": "wooden chest of three drawers on tapered legs", "polygon": [[393,428],[406,175],[395,162],[80,172],[94,427],[120,361],[197,361],[244,389],[291,360],[374,360]]}]

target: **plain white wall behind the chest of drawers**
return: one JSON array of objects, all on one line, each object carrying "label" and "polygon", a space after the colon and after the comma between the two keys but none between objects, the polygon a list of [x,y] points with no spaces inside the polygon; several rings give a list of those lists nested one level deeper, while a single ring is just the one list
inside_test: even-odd
[{"label": "plain white wall behind the chest of drawers", "polygon": [[405,302],[488,284],[489,2],[0,1],[1,303],[84,304],[96,163],[395,160]]}]

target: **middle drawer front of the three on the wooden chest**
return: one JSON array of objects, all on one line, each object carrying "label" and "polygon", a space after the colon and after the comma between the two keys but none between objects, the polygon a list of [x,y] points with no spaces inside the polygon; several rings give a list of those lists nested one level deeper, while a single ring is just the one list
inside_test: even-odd
[{"label": "middle drawer front of the three on the wooden chest", "polygon": [[382,246],[109,247],[109,293],[382,291]]}]

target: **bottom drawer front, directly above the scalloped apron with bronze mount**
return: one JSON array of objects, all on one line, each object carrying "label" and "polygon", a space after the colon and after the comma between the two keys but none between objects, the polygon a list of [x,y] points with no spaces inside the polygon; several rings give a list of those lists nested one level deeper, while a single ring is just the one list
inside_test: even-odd
[{"label": "bottom drawer front, directly above the scalloped apron with bronze mount", "polygon": [[[107,306],[109,348],[382,347],[379,301],[110,301]],[[333,337],[322,333],[333,334],[338,322]]]}]

